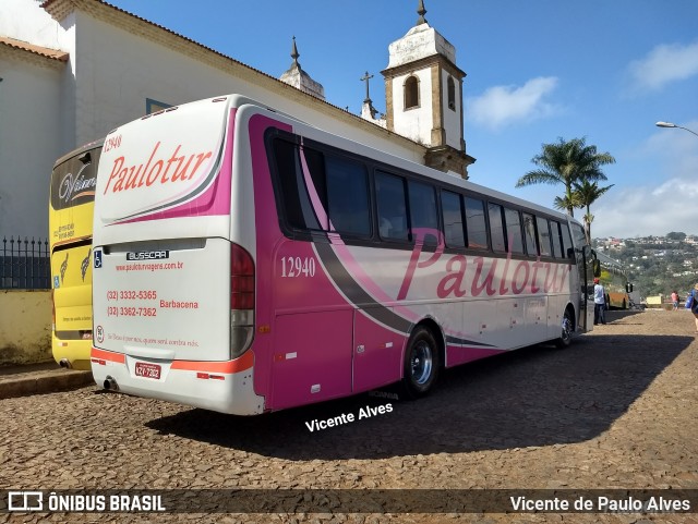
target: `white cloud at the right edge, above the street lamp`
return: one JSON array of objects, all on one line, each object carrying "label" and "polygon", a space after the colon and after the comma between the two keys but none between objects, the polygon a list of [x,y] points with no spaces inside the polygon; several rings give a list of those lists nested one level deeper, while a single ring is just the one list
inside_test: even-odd
[{"label": "white cloud at the right edge, above the street lamp", "polygon": [[662,44],[628,65],[635,90],[660,90],[671,82],[698,74],[698,42]]}]

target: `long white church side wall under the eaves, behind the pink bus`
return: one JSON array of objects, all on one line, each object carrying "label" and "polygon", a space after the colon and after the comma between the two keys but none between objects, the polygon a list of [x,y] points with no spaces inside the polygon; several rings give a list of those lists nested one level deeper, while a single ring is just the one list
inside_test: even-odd
[{"label": "long white church side wall under the eaves, behind the pink bus", "polygon": [[92,17],[79,20],[77,27],[76,145],[141,118],[148,98],[176,106],[238,93],[320,129],[423,162],[418,147],[344,122],[332,108],[276,80],[264,78],[262,85],[258,73],[248,68],[231,64],[226,72]]}]

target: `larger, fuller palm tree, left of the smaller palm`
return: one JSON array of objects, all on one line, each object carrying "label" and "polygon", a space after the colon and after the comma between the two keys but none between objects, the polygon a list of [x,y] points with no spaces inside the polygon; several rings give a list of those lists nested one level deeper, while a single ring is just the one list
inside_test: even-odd
[{"label": "larger, fuller palm tree, left of the smaller palm", "polygon": [[543,150],[531,161],[540,169],[529,171],[516,183],[517,187],[532,184],[563,184],[565,194],[557,197],[555,204],[564,205],[571,217],[575,216],[574,184],[583,180],[606,180],[601,166],[614,163],[615,158],[609,153],[597,153],[597,146],[588,146],[586,138],[573,138],[557,143],[543,144]]}]

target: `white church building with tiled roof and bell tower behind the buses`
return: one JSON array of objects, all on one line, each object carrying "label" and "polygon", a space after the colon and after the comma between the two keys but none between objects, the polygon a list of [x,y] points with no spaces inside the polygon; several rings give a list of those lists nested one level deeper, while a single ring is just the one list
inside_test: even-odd
[{"label": "white church building with tiled roof and bell tower behind the buses", "polygon": [[146,113],[228,93],[467,178],[465,73],[449,46],[425,21],[390,46],[377,121],[325,101],[294,41],[279,80],[101,0],[3,0],[0,239],[46,236],[48,178],[64,153]]}]

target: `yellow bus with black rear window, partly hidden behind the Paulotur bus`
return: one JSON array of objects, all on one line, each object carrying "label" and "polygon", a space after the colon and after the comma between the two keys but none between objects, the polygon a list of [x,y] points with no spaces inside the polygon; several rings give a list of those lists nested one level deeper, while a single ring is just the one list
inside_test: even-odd
[{"label": "yellow bus with black rear window, partly hidden behind the Paulotur bus", "polygon": [[104,141],[59,158],[51,173],[49,243],[53,322],[51,348],[62,367],[89,369],[92,349],[92,219]]}]

